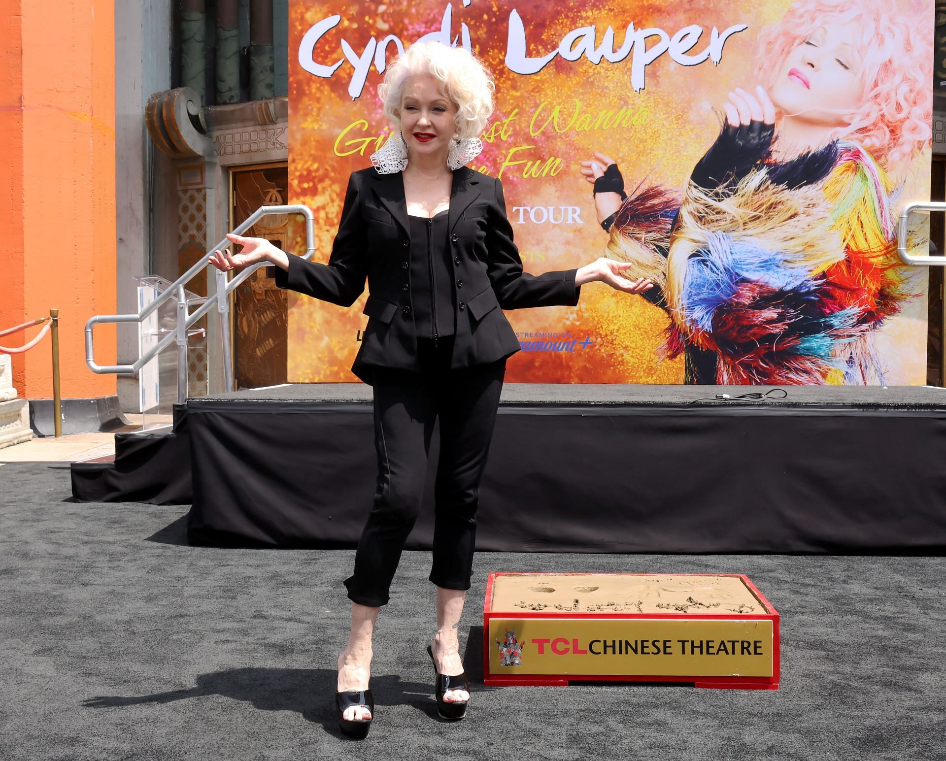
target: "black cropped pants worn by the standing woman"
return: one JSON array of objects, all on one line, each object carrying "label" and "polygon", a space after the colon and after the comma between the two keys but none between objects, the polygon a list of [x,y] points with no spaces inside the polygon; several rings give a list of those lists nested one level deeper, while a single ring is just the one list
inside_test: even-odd
[{"label": "black cropped pants worn by the standing woman", "polygon": [[361,532],[355,571],[345,579],[360,605],[388,602],[401,550],[420,510],[430,436],[440,421],[434,485],[430,581],[469,589],[476,543],[480,481],[493,437],[506,361],[450,370],[452,338],[418,341],[421,372],[383,370],[375,376],[377,489]]}]

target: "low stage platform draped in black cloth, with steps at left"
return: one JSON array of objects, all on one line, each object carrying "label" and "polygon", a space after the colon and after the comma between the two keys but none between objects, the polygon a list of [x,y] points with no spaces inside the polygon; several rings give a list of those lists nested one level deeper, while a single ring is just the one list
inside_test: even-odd
[{"label": "low stage platform draped in black cloth, with steps at left", "polygon": [[[478,548],[946,547],[946,391],[784,392],[507,385],[480,494]],[[738,398],[745,394],[762,398]],[[149,446],[162,447],[149,470],[142,438],[119,434],[114,463],[73,467],[76,498],[192,503],[194,544],[356,545],[375,491],[369,387],[289,384],[190,399],[175,409],[171,436],[149,434]],[[134,467],[123,465],[122,437]],[[437,446],[435,432],[412,549],[432,539]]]}]

